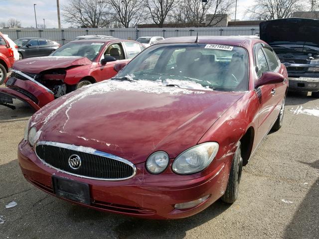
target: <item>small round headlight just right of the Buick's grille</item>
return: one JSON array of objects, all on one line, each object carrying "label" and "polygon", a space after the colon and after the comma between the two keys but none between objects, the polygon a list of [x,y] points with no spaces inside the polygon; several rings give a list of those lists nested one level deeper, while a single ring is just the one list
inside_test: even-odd
[{"label": "small round headlight just right of the Buick's grille", "polygon": [[146,168],[150,173],[158,174],[163,172],[169,163],[168,154],[164,151],[152,153],[146,161]]}]

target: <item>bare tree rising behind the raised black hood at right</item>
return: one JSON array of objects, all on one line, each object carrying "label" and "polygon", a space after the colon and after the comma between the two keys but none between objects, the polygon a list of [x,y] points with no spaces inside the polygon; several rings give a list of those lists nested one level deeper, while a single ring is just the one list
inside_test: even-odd
[{"label": "bare tree rising behind the raised black hood at right", "polygon": [[295,11],[303,9],[302,0],[255,0],[246,10],[252,19],[273,20],[287,18]]}]

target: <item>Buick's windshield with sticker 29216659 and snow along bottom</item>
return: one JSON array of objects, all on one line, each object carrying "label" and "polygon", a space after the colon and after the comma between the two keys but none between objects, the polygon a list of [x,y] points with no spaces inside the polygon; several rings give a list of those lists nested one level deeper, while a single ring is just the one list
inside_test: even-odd
[{"label": "Buick's windshield with sticker 29216659 and snow along bottom", "polygon": [[188,89],[246,91],[248,55],[238,46],[160,44],[144,50],[117,77]]}]

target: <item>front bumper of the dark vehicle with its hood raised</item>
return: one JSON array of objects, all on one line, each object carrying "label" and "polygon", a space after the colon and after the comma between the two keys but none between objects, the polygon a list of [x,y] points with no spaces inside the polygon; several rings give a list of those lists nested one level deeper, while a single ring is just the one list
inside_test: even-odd
[{"label": "front bumper of the dark vehicle with its hood raised", "polygon": [[315,77],[289,77],[289,91],[319,91],[319,78]]}]

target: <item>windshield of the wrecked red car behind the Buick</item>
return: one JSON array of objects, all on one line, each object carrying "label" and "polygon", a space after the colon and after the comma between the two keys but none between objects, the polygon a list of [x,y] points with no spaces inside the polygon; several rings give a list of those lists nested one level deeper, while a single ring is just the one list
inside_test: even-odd
[{"label": "windshield of the wrecked red car behind the Buick", "polygon": [[103,42],[69,42],[58,48],[50,56],[85,56],[93,61],[103,45]]}]

